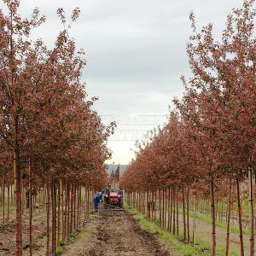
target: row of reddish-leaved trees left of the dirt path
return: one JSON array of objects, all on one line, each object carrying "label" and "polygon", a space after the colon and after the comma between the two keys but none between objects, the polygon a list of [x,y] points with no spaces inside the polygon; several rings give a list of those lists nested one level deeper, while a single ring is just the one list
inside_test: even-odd
[{"label": "row of reddish-leaved trees left of the dirt path", "polygon": [[[75,195],[79,201],[81,187],[91,190],[107,183],[104,161],[110,151],[106,143],[114,124],[102,125],[92,109],[96,98],[88,99],[80,80],[84,50],[77,50],[68,34],[79,17],[79,9],[73,10],[70,23],[64,10],[58,9],[63,29],[54,48],[49,49],[42,39],[31,39],[32,30],[45,21],[39,10],[34,9],[30,19],[23,19],[18,13],[19,0],[3,3],[6,12],[0,9],[0,175],[3,188],[15,183],[16,255],[21,255],[22,187],[30,193],[30,205],[32,191],[45,189],[47,227],[49,204],[55,225],[59,214],[56,209],[64,211],[60,200],[56,200],[58,196],[66,191],[68,201],[78,193]],[[64,207],[69,209],[70,203]],[[54,231],[52,234],[54,255],[56,237]],[[63,236],[67,238],[68,234]]]}]

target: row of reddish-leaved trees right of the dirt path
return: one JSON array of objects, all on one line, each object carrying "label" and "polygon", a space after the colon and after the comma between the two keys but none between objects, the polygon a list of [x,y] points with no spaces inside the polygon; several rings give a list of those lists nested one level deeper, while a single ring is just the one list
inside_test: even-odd
[{"label": "row of reddish-leaved trees right of the dirt path", "polygon": [[[136,160],[121,178],[125,190],[156,191],[175,186],[183,193],[209,196],[212,211],[212,255],[216,255],[216,191],[223,181],[236,186],[241,207],[241,183],[248,178],[250,255],[254,252],[253,175],[256,149],[255,1],[243,2],[228,15],[220,40],[212,24],[198,30],[190,15],[192,35],[187,44],[193,76],[182,77],[185,93],[174,100],[168,124],[150,143],[139,146]],[[225,198],[225,197],[224,197]],[[230,221],[229,203],[229,221]],[[241,255],[244,255],[241,211],[238,211]],[[230,250],[230,224],[226,255]]]}]

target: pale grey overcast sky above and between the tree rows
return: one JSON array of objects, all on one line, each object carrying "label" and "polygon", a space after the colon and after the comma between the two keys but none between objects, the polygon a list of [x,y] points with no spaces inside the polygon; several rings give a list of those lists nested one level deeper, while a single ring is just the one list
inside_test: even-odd
[{"label": "pale grey overcast sky above and between the tree rows", "polygon": [[[95,106],[98,113],[125,119],[127,115],[165,115],[172,98],[182,96],[179,78],[182,74],[189,76],[185,47],[191,31],[191,10],[199,26],[212,22],[218,36],[226,15],[241,3],[242,0],[21,0],[20,12],[27,16],[38,7],[46,15],[47,22],[34,37],[44,38],[52,45],[61,27],[55,10],[63,7],[70,14],[76,7],[81,9],[72,35],[86,52],[83,80],[87,92],[100,97]],[[0,4],[3,7],[2,1]],[[133,126],[120,121],[119,132],[151,128],[142,125],[141,119],[136,120]],[[133,138],[136,136],[128,139]],[[125,142],[127,138],[119,136],[115,139],[121,141],[109,142],[113,149],[110,162],[129,162],[134,142]]]}]

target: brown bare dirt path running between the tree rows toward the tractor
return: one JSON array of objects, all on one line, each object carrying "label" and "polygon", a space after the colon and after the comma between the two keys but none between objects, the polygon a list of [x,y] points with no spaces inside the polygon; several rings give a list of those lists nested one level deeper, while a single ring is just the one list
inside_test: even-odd
[{"label": "brown bare dirt path running between the tree rows toward the tractor", "polygon": [[63,255],[170,255],[166,247],[160,245],[148,230],[142,230],[127,212],[108,212],[98,218],[90,218],[81,235],[79,241],[64,249]]}]

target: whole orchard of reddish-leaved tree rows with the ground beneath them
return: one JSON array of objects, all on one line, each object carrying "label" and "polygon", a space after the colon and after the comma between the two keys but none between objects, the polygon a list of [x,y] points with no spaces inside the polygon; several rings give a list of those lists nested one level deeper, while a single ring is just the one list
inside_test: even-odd
[{"label": "whole orchard of reddish-leaved tree rows with the ground beneath them", "polygon": [[0,255],[254,255],[254,0],[218,40],[191,13],[183,97],[115,180],[125,211],[98,214],[116,124],[103,124],[81,79],[84,49],[70,36],[80,10],[57,10],[49,48],[32,37],[39,9],[23,18],[19,0],[1,4]]}]

